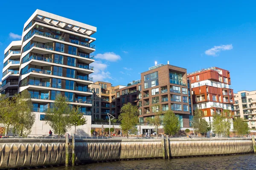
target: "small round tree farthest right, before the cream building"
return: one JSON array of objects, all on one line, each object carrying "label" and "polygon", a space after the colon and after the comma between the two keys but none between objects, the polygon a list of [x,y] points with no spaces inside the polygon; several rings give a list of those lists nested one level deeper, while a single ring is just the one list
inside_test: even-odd
[{"label": "small round tree farthest right, before the cream building", "polygon": [[233,120],[234,131],[237,135],[245,135],[249,133],[249,127],[244,119],[237,117]]}]

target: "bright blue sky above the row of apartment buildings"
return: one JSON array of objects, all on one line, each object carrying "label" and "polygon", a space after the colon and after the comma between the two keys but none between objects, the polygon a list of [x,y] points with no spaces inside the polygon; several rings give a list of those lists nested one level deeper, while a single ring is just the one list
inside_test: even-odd
[{"label": "bright blue sky above the row of apartment buildings", "polygon": [[95,80],[127,85],[155,60],[169,60],[187,72],[211,66],[229,70],[235,92],[256,90],[256,2],[65,1],[1,2],[0,60],[38,8],[97,27]]}]

